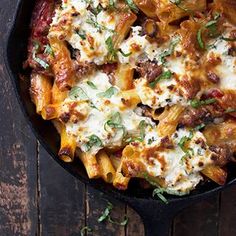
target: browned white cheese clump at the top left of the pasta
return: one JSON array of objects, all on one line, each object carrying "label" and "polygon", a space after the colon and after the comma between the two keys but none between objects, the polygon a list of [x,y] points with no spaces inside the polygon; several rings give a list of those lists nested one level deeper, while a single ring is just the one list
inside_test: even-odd
[{"label": "browned white cheese clump at the top left of the pasta", "polygon": [[[56,25],[66,24],[69,33],[63,35],[66,41],[80,52],[81,62],[94,62],[101,65],[106,62],[108,46],[106,40],[114,35],[116,16],[102,10],[95,16],[88,8],[86,1],[68,0],[58,9],[53,18],[52,28]],[[73,13],[73,14],[72,14]],[[62,23],[64,18],[70,18]],[[61,32],[62,34],[64,32]],[[49,36],[60,38],[58,29],[51,31]]]}]

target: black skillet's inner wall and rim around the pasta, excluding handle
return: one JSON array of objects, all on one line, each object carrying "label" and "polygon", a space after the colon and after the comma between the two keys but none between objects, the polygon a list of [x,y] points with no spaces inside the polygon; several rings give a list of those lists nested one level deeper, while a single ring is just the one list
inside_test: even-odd
[{"label": "black skillet's inner wall and rim around the pasta, excluding handle", "polygon": [[[29,79],[20,79],[19,77],[20,74],[23,74],[22,63],[26,59],[29,22],[34,2],[35,1],[29,2],[26,0],[19,0],[18,11],[15,16],[13,27],[9,34],[6,45],[5,61],[22,111],[24,112],[24,115],[36,137],[54,158],[54,160],[56,160],[64,169],[83,182],[88,183],[94,186],[96,189],[108,193],[113,197],[118,197],[129,202],[135,198],[141,198],[143,200],[150,199],[150,191],[140,190],[140,188],[137,188],[135,182],[131,183],[131,186],[127,191],[121,192],[114,189],[112,186],[105,184],[103,181],[90,181],[85,173],[83,165],[81,165],[79,161],[76,161],[72,164],[66,164],[57,158],[57,152],[59,150],[59,135],[57,134],[51,122],[43,121],[42,118],[36,114],[35,107],[29,97]],[[225,186],[220,187],[213,182],[207,182],[199,186],[186,197],[169,196],[168,200],[171,202],[179,202],[186,199],[202,198],[203,196],[210,195],[225,188],[226,186],[230,186],[234,182],[236,182],[236,166],[232,165],[229,167],[229,177]]]}]

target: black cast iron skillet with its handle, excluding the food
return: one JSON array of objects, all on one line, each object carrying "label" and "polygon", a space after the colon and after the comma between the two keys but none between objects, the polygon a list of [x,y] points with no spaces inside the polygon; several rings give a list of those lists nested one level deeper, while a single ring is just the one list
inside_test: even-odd
[{"label": "black cast iron skillet with its handle, excluding the food", "polygon": [[14,86],[21,109],[32,128],[35,136],[51,157],[69,173],[80,181],[94,188],[128,203],[142,217],[146,236],[166,236],[173,217],[184,207],[204,199],[236,182],[236,167],[229,167],[229,177],[225,186],[218,186],[212,182],[205,183],[190,195],[185,197],[169,196],[169,204],[164,204],[151,197],[149,191],[140,190],[135,183],[125,191],[118,191],[100,180],[89,180],[83,165],[79,161],[66,164],[57,157],[59,150],[59,136],[51,122],[43,121],[35,112],[35,107],[29,97],[29,80],[19,78],[22,73],[22,63],[26,59],[27,39],[29,36],[29,22],[35,1],[16,0],[16,12],[12,28],[5,46],[5,63]]}]

